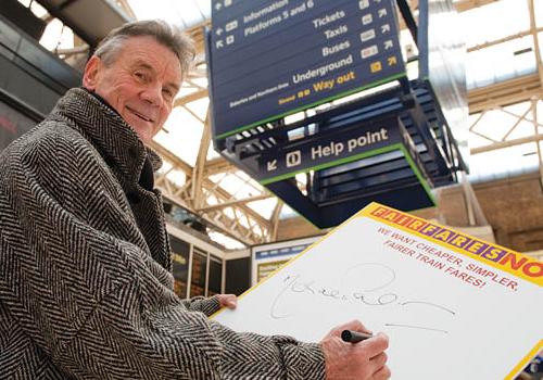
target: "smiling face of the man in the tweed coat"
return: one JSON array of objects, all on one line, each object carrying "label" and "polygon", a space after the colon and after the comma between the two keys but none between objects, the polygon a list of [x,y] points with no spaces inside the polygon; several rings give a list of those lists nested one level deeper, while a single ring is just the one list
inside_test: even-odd
[{"label": "smiling face of the man in the tweed coat", "polygon": [[179,60],[149,36],[130,37],[106,66],[92,56],[85,67],[84,86],[102,97],[149,142],[166,122],[181,86]]}]

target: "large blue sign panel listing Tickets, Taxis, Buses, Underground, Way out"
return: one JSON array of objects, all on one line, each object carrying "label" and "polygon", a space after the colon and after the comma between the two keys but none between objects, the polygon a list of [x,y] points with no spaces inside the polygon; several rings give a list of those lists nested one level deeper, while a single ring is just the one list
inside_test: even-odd
[{"label": "large blue sign panel listing Tickets, Taxis, Buses, Underground, Way out", "polygon": [[215,138],[405,75],[392,0],[214,0],[212,7]]}]

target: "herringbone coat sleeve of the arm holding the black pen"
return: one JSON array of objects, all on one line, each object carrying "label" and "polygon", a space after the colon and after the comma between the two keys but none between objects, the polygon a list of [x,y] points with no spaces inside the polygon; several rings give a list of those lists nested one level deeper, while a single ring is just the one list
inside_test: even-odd
[{"label": "herringbone coat sleeve of the arm holding the black pen", "polygon": [[50,140],[12,154],[0,195],[18,227],[0,259],[14,263],[10,312],[59,368],[76,379],[324,378],[319,344],[237,333],[189,311],[124,238],[130,221],[105,167],[86,147]]}]

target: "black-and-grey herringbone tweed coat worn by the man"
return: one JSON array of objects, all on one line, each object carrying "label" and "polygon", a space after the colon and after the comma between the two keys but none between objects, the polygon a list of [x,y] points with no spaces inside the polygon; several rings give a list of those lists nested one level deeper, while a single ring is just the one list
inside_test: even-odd
[{"label": "black-and-grey herringbone tweed coat worn by the man", "polygon": [[318,344],[174,294],[155,159],[84,89],[2,152],[0,379],[323,379]]}]

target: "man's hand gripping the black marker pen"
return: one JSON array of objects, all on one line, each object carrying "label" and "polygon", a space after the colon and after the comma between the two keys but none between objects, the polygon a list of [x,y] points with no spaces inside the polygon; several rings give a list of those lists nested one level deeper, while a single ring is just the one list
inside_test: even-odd
[{"label": "man's hand gripping the black marker pen", "polygon": [[369,332],[358,320],[338,326],[320,342],[325,353],[327,380],[384,380],[390,378],[387,367],[389,338],[383,333],[358,343],[341,340],[343,330]]}]

